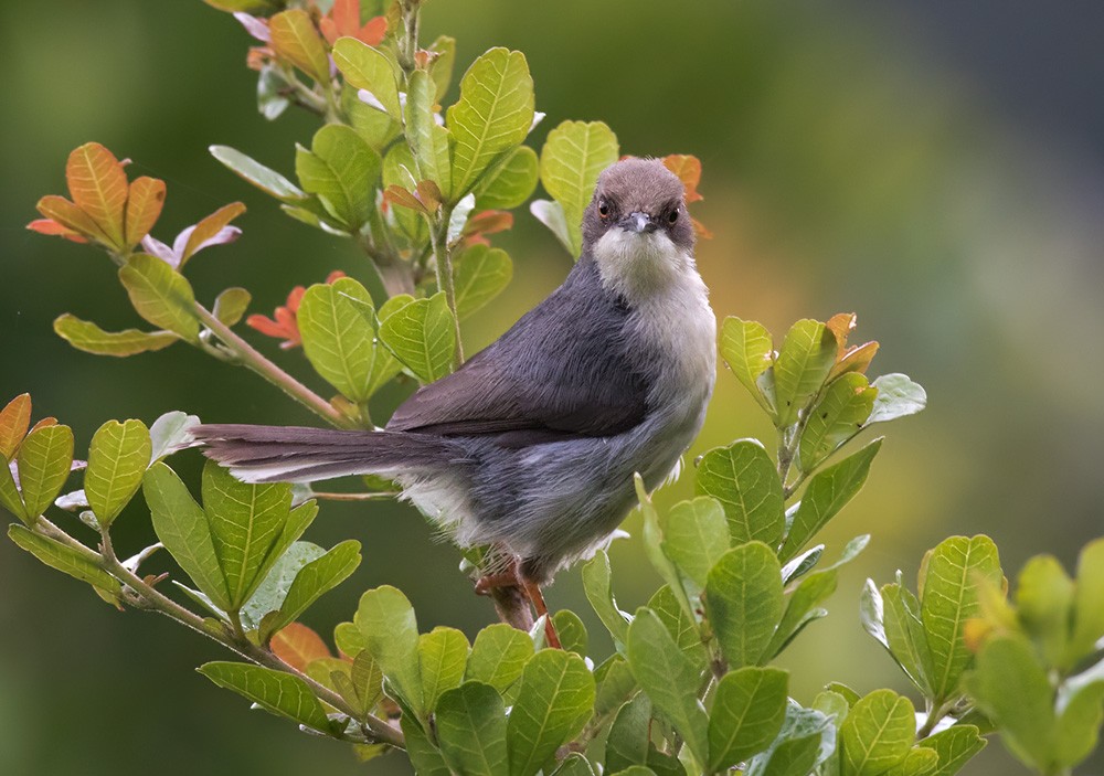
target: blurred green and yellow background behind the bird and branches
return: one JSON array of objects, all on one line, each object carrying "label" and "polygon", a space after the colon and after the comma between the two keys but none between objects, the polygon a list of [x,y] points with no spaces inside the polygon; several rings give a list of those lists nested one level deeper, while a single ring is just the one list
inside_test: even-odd
[{"label": "blurred green and yellow background behind the bird and branches", "polygon": [[[991,534],[1009,572],[1041,551],[1071,565],[1104,533],[1098,2],[433,0],[424,35],[439,32],[458,39],[460,63],[491,45],[526,52],[548,114],[538,148],[565,118],[603,119],[623,152],[702,159],[696,214],[716,237],[698,255],[719,317],[762,320],[781,339],[797,318],[854,310],[857,337],[882,343],[872,372],[904,371],[927,387],[928,410],[888,429],[870,483],[824,536],[829,552],[856,533],[873,541],[843,573],[832,616],[785,656],[798,700],[834,679],[907,691],[859,625],[867,576],[884,582],[900,567],[913,578],[923,551],[952,533]],[[288,171],[293,143],[315,127],[295,113],[275,124],[256,113],[247,45],[233,19],[199,0],[0,4],[0,401],[30,391],[36,416],[74,427],[78,450],[107,418],[150,422],[176,408],[311,422],[244,370],[183,346],[121,361],[70,349],[50,326],[63,311],[107,328],[137,319],[103,255],[23,230],[40,195],[63,192],[68,151],[98,140],[134,159],[132,174],[168,182],[162,240],[225,202],[248,204],[243,238],[190,268],[202,299],[244,285],[253,311],[270,312],[293,285],[331,269],[364,278],[347,243],[283,216],[208,156],[226,143]],[[516,279],[474,320],[470,351],[570,266],[523,212],[498,244]],[[279,358],[321,390],[301,352]],[[383,396],[378,413],[401,397]],[[721,374],[691,455],[767,432]],[[194,482],[198,455],[179,458]],[[638,520],[626,528],[634,538],[612,554],[631,609],[658,580]],[[152,536],[140,508],[117,530],[124,551]],[[347,536],[363,541],[364,562],[308,615],[322,633],[382,583],[410,595],[423,630],[471,636],[492,618],[456,552],[411,510],[327,504],[308,535],[325,545]],[[213,644],[114,612],[7,541],[0,591],[0,773],[407,772],[401,757],[357,765],[344,746],[251,713],[192,671],[224,657]],[[588,613],[577,568],[549,598]],[[609,650],[596,624],[592,644]],[[1018,767],[995,744],[966,773]],[[1102,770],[1097,754],[1081,773]]]}]

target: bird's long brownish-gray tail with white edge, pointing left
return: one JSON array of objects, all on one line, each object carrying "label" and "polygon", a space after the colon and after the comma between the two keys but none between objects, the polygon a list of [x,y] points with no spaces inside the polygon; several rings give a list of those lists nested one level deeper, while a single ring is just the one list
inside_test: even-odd
[{"label": "bird's long brownish-gray tail with white edge, pointing left", "polygon": [[422,474],[457,457],[448,439],[406,432],[205,424],[203,454],[246,482],[311,482],[346,475]]}]

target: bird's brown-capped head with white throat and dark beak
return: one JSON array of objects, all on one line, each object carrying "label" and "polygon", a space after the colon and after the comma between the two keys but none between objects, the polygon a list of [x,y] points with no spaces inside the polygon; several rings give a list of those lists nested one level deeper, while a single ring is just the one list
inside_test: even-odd
[{"label": "bird's brown-capped head with white throat and dark beak", "polygon": [[583,253],[597,263],[607,288],[631,302],[693,270],[684,193],[658,159],[625,159],[598,177],[583,213]]}]

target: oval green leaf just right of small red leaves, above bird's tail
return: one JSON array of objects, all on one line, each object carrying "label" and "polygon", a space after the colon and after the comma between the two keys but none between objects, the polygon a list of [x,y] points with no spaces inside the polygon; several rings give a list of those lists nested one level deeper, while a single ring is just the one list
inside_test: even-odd
[{"label": "oval green leaf just right of small red leaves, above bird's tail", "polygon": [[343,396],[360,404],[371,396],[375,330],[371,316],[363,315],[349,297],[371,304],[368,291],[355,280],[341,286],[315,284],[302,295],[297,319],[302,351],[311,366]]}]

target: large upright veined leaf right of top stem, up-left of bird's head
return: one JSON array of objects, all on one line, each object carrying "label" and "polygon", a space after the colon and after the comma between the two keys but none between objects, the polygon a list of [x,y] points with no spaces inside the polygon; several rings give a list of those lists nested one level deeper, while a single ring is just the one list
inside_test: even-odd
[{"label": "large upright veined leaf right of top stem, up-left of bird's head", "polygon": [[523,54],[491,49],[460,79],[448,109],[453,132],[453,200],[459,200],[498,155],[519,145],[533,123],[533,79]]}]

